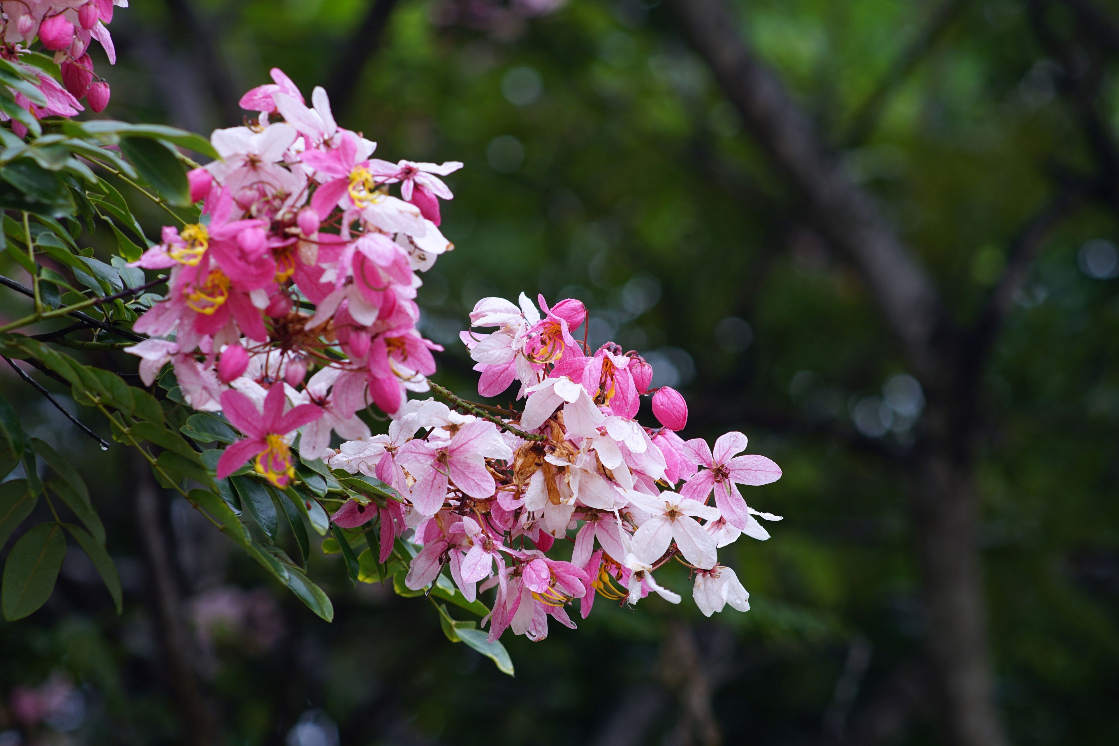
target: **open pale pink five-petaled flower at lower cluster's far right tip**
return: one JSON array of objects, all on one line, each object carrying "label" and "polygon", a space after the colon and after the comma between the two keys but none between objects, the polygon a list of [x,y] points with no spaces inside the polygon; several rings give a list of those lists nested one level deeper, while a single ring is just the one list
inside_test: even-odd
[{"label": "open pale pink five-petaled flower at lower cluster's far right tip", "polygon": [[775,482],[781,479],[781,469],[765,456],[735,456],[746,447],[746,436],[737,432],[720,436],[715,441],[714,455],[703,438],[690,440],[687,446],[696,463],[706,469],[688,478],[680,494],[706,502],[714,489],[715,506],[726,522],[739,530],[745,530],[750,522],[750,509],[734,485],[758,487]]}]

